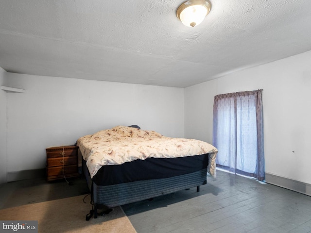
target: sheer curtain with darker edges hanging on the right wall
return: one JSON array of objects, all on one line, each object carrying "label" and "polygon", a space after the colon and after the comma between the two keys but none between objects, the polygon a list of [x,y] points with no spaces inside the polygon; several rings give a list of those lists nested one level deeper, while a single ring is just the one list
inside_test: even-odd
[{"label": "sheer curtain with darker edges hanging on the right wall", "polygon": [[215,96],[213,145],[216,166],[264,180],[262,90]]}]

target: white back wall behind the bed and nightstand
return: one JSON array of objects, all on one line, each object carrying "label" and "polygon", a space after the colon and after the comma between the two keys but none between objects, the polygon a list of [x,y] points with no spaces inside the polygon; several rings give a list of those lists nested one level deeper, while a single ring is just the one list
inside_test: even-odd
[{"label": "white back wall behind the bed and nightstand", "polygon": [[7,73],[8,172],[44,168],[45,148],[137,124],[184,137],[184,89]]}]

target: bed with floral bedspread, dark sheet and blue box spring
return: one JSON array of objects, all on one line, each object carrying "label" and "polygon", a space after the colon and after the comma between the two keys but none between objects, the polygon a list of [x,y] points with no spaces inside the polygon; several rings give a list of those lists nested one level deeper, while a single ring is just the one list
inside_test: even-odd
[{"label": "bed with floral bedspread, dark sheet and blue box spring", "polygon": [[165,137],[139,126],[116,126],[77,140],[82,168],[98,210],[148,200],[207,183],[217,149],[195,139]]}]

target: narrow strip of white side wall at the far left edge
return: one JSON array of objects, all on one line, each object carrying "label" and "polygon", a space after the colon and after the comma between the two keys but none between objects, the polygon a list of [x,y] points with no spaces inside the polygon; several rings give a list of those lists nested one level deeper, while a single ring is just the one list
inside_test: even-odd
[{"label": "narrow strip of white side wall at the far left edge", "polygon": [[[4,83],[6,72],[0,67],[0,86]],[[0,90],[0,183],[5,183],[6,179],[6,93]]]}]

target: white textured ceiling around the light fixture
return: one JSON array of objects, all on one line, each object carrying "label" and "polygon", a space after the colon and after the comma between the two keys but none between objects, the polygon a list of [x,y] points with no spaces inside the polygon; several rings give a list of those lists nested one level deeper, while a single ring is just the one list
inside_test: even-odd
[{"label": "white textured ceiling around the light fixture", "polygon": [[194,28],[182,2],[0,0],[0,67],[187,87],[311,50],[311,0],[210,0]]}]

